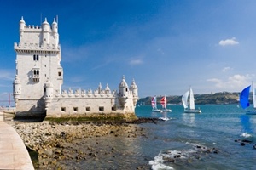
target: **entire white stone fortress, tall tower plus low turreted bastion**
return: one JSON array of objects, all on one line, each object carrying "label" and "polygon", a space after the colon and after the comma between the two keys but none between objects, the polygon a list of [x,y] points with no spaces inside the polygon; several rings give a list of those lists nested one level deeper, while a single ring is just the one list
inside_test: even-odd
[{"label": "entire white stone fortress, tall tower plus low turreted bastion", "polygon": [[123,76],[119,90],[62,90],[63,68],[58,23],[51,26],[26,25],[20,20],[20,42],[14,44],[16,75],[13,82],[15,115],[90,116],[95,114],[135,114],[138,89],[135,81],[129,87]]}]

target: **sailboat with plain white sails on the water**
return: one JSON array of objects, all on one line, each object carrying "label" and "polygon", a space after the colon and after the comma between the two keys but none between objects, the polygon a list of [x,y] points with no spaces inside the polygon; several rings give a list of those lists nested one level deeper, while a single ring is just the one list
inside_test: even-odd
[{"label": "sailboat with plain white sails on the water", "polygon": [[[188,99],[189,99],[189,103],[188,103]],[[194,94],[191,87],[185,94],[183,94],[182,102],[183,102],[185,113],[201,113],[200,109],[195,109],[195,99],[194,99]]]}]

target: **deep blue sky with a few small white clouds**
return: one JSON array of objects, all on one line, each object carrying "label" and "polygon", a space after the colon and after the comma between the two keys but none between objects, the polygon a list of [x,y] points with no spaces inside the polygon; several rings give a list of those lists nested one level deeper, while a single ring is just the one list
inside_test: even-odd
[{"label": "deep blue sky with a few small white clouds", "polygon": [[0,2],[0,105],[13,92],[21,16],[34,26],[58,16],[62,89],[118,90],[125,75],[143,98],[189,86],[194,94],[240,92],[256,81],[254,0]]}]

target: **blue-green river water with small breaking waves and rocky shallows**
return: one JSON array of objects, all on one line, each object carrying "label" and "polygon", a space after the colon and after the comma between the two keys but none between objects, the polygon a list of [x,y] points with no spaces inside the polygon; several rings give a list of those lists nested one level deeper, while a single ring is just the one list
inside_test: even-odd
[{"label": "blue-green river water with small breaking waves and rocky shallows", "polygon": [[[63,164],[72,169],[256,169],[256,115],[247,116],[237,105],[197,105],[202,114],[183,113],[182,105],[168,106],[172,112],[166,115],[153,113],[150,105],[136,108],[139,117],[170,119],[137,125],[145,136],[81,139],[79,150],[100,148],[97,156]],[[253,142],[235,141],[243,139]]]}]

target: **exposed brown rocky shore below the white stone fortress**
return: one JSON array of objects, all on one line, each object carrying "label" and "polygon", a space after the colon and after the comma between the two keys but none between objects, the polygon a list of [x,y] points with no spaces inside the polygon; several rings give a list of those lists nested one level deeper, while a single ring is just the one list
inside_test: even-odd
[{"label": "exposed brown rocky shore below the white stone fortress", "polygon": [[[145,119],[144,122],[153,121]],[[138,135],[146,136],[143,134],[143,128],[136,125],[140,122],[129,123],[31,122],[15,123],[13,127],[20,134],[24,143],[38,152],[38,169],[55,169],[60,166],[62,169],[68,169],[68,165],[60,165],[60,161],[75,162],[82,159],[86,160],[86,153],[83,153],[86,150],[86,146],[90,152],[87,154],[88,160],[93,157],[94,160],[100,160],[101,156],[106,155],[113,158],[117,157],[115,154],[119,153],[120,150],[116,150],[113,144],[108,144],[108,147],[101,148],[101,151],[99,151],[100,148],[97,147],[102,145],[102,141],[97,140],[89,145],[87,138],[105,135],[111,135],[112,137],[130,136],[130,138],[135,138]],[[79,150],[80,147],[83,147],[83,151]],[[53,165],[55,166],[53,167]]]}]

